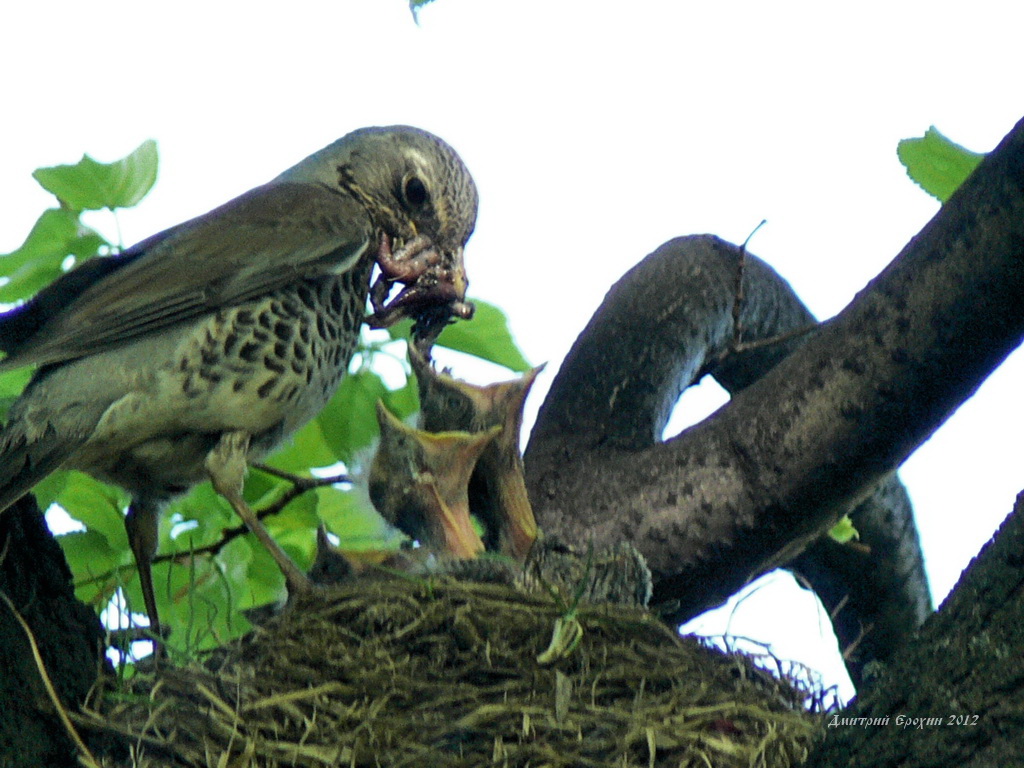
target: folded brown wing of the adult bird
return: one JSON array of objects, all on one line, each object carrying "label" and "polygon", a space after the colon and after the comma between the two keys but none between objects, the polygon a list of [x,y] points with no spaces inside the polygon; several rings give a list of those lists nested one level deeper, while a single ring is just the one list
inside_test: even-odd
[{"label": "folded brown wing of the adult bird", "polygon": [[280,181],[256,187],[126,252],[123,265],[95,270],[84,289],[74,286],[0,371],[74,359],[296,280],[344,272],[372,237],[366,210],[344,194]]}]

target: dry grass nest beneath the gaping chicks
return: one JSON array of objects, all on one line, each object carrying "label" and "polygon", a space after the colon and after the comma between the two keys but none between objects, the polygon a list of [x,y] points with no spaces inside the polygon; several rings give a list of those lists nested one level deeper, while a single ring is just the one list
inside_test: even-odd
[{"label": "dry grass nest beneath the gaping chicks", "polygon": [[377,578],[77,719],[103,766],[790,766],[820,732],[805,696],[643,609]]}]

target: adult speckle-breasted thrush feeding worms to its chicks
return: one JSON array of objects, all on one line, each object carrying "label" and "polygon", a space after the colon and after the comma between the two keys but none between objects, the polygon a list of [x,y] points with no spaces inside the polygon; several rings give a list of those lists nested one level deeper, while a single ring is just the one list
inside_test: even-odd
[{"label": "adult speckle-breasted thrush feeding worms to its chicks", "polygon": [[[0,511],[59,468],[132,497],[146,611],[161,508],[209,478],[308,584],[242,499],[258,460],[327,403],[370,294],[373,325],[436,334],[463,302],[477,195],[446,143],[354,131],[275,179],[117,256],[94,258],[0,316],[0,371],[38,370],[0,432]],[[394,283],[404,288],[389,299]]]}]

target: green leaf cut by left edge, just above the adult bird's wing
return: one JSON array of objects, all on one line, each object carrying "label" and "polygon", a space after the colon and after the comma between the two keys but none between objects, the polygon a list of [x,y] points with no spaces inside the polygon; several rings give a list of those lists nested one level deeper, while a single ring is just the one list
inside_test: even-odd
[{"label": "green leaf cut by left edge, just above the adult bird's wing", "polygon": [[78,214],[66,209],[44,211],[16,251],[0,256],[0,302],[32,296],[63,273],[61,265],[70,255],[79,261],[94,256],[106,241],[83,226]]}]

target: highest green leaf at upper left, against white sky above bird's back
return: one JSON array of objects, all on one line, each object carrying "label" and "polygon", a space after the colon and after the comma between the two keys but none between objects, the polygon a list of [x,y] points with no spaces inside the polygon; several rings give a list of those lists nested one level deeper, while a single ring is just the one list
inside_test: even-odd
[{"label": "highest green leaf at upper left, against white sky above bird's back", "polygon": [[40,168],[32,175],[75,211],[131,208],[153,188],[157,165],[157,142],[150,139],[113,163],[97,163],[83,155],[75,165]]}]

